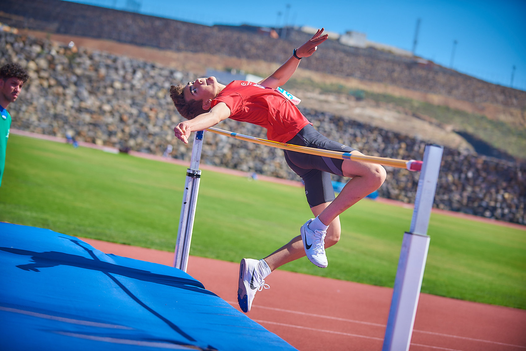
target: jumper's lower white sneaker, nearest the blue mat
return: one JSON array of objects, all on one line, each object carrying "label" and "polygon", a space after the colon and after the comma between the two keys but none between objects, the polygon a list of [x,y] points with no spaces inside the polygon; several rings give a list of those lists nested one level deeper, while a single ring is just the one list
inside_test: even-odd
[{"label": "jumper's lower white sneaker, nearest the blue mat", "polygon": [[[237,302],[241,311],[247,313],[252,306],[252,300],[256,296],[256,292],[263,290],[263,288],[270,288],[265,280],[258,279],[260,276],[256,272],[258,260],[242,259],[239,264],[239,287],[237,290]],[[256,274],[254,274],[256,272]]]}]

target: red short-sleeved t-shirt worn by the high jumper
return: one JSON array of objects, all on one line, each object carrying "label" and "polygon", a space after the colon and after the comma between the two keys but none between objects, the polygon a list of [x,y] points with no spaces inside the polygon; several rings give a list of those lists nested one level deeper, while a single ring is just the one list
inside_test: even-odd
[{"label": "red short-sleeved t-shirt worn by the high jumper", "polygon": [[250,81],[234,80],[212,100],[214,107],[225,102],[230,117],[267,129],[267,139],[287,142],[312,123],[278,90]]}]

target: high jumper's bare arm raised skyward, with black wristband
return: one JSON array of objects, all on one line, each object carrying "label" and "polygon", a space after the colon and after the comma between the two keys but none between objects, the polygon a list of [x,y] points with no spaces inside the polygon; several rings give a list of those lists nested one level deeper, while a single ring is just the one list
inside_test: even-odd
[{"label": "high jumper's bare arm raised skyward, with black wristband", "polygon": [[[329,37],[328,34],[321,35],[323,29],[318,29],[315,35],[312,36],[307,42],[296,49],[296,56],[298,57],[309,57],[315,53],[318,49],[318,45],[325,42]],[[294,74],[299,65],[299,59],[294,56],[290,56],[284,64],[281,65],[272,75],[261,80],[259,84],[265,87],[276,89],[280,85],[284,85],[287,80]]]}]

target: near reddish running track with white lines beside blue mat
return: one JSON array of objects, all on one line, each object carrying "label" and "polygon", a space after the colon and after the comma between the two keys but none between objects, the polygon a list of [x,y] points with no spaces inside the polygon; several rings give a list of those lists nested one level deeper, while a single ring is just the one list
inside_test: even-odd
[{"label": "near reddish running track with white lines beside blue mat", "polygon": [[[83,239],[105,253],[173,265],[174,254]],[[306,263],[308,264],[308,263]],[[190,256],[188,273],[237,306],[237,263]],[[277,270],[247,314],[301,351],[381,350],[392,289]],[[411,351],[526,350],[526,311],[420,294]]]}]

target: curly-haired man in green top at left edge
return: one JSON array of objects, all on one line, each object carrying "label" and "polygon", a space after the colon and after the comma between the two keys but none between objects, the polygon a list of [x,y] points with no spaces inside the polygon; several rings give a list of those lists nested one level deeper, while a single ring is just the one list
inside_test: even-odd
[{"label": "curly-haired man in green top at left edge", "polygon": [[0,186],[4,176],[5,149],[11,128],[11,115],[6,108],[18,98],[28,78],[26,70],[19,64],[11,63],[0,67]]}]

